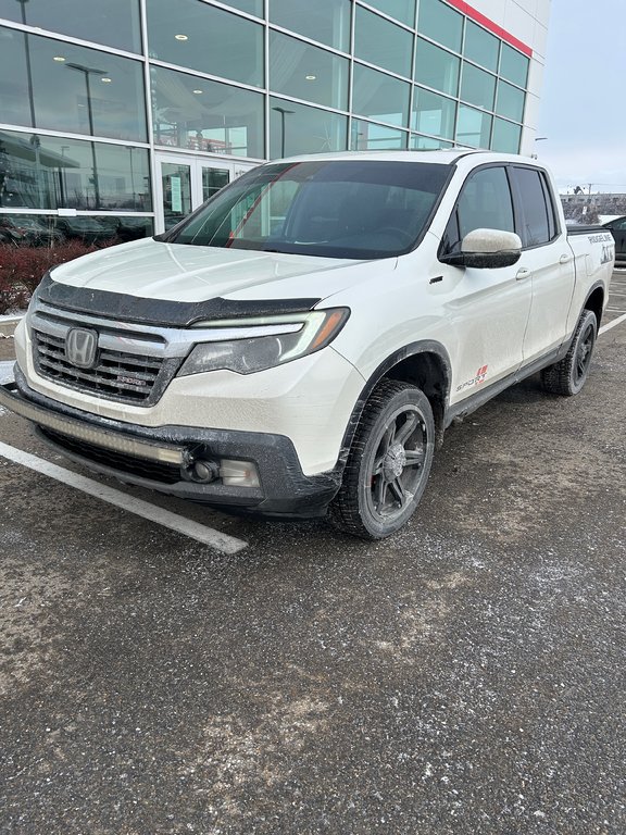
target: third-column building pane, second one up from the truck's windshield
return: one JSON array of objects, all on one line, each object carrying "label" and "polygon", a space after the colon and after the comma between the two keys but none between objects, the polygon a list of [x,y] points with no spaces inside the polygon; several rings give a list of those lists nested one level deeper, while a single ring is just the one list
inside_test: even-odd
[{"label": "third-column building pane, second one up from the truck's windshield", "polygon": [[271,32],[270,88],[273,92],[346,110],[348,61],[325,49]]}]

